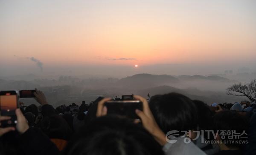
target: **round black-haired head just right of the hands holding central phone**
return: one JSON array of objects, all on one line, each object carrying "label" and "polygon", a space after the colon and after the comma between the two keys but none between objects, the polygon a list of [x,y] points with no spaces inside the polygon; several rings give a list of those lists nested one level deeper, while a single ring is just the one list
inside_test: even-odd
[{"label": "round black-haired head just right of the hands holding central phone", "polygon": [[172,92],[152,96],[149,107],[157,124],[165,133],[170,130],[187,131],[197,127],[196,106],[184,95]]}]

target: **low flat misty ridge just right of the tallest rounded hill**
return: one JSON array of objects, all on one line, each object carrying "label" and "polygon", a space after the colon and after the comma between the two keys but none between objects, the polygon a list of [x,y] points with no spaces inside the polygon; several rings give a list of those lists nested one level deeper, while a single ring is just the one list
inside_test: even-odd
[{"label": "low flat misty ridge just right of the tallest rounded hill", "polygon": [[227,78],[223,78],[217,75],[211,76],[202,76],[202,75],[180,75],[178,76],[180,80],[214,80],[214,81],[221,81],[221,82],[231,82],[231,80]]}]

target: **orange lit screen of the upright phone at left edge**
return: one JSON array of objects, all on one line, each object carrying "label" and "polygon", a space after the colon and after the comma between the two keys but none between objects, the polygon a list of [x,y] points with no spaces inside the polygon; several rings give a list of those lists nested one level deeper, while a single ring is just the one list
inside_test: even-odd
[{"label": "orange lit screen of the upright phone at left edge", "polygon": [[17,95],[1,95],[0,96],[0,107],[2,116],[15,115],[17,109]]}]

